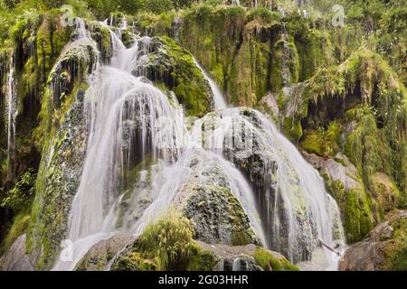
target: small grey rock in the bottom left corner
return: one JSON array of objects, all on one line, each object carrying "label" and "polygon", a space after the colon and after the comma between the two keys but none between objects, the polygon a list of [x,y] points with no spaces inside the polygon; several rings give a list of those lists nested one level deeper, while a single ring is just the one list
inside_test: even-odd
[{"label": "small grey rock in the bottom left corner", "polygon": [[25,254],[25,238],[25,234],[17,238],[7,254],[0,258],[0,271],[33,271]]}]

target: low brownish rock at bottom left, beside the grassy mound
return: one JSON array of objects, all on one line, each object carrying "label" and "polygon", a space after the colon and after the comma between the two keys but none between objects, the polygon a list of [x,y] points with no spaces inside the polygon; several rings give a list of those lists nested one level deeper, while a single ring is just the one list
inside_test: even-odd
[{"label": "low brownish rock at bottom left, beside the grassy mound", "polygon": [[125,247],[133,237],[129,234],[116,235],[102,240],[90,248],[89,252],[75,267],[77,271],[101,271],[107,269],[109,261]]}]

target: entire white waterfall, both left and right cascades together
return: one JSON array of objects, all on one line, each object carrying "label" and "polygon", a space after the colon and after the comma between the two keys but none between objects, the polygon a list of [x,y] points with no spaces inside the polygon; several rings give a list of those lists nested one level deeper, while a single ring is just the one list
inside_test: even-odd
[{"label": "entire white waterfall, both left and right cascades together", "polygon": [[[126,49],[118,35],[110,33],[114,57],[109,66],[99,66],[90,75],[85,95],[90,135],[68,224],[73,259],[58,258],[54,270],[72,270],[100,240],[119,232],[137,235],[162,217],[190,174],[196,155],[204,163],[217,163],[225,172],[263,245],[299,262],[313,260],[303,256],[303,251],[308,247],[312,254],[320,248],[318,238],[332,244],[334,220],[329,210],[337,210],[332,205],[335,201],[329,199],[317,171],[267,117],[251,109],[260,124],[256,126],[241,115],[241,109],[227,108],[220,89],[195,61],[213,90],[216,111],[197,120],[188,132],[184,110],[175,96],[156,89],[143,75],[131,74],[137,63],[145,61],[150,39],[137,39]],[[211,117],[218,117],[220,129],[210,132],[211,142],[203,142],[207,135],[202,125]],[[265,191],[265,200],[228,157],[228,145],[234,145],[229,133],[235,132],[235,123],[260,135],[259,141],[277,165],[275,172],[271,163],[267,167],[267,173],[277,174],[277,189],[274,194]],[[336,261],[327,249],[322,250],[323,266],[336,269]]]}]

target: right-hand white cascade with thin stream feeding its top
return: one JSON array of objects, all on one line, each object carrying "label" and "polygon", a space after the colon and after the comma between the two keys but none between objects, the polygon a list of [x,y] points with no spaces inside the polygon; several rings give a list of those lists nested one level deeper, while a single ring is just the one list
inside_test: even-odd
[{"label": "right-hand white cascade with thin stream feeding its top", "polygon": [[[197,66],[200,67],[199,64]],[[213,94],[218,94],[219,89],[213,80],[209,79],[204,70],[203,73],[210,80]],[[214,99],[218,98],[222,98],[222,94]],[[239,154],[245,151],[251,154],[251,145],[260,142],[263,144],[263,153],[267,152],[273,161],[264,164],[262,169],[266,175],[273,175],[274,180],[260,180],[261,183],[252,180],[258,195],[258,208],[267,244],[284,253],[292,262],[322,262],[320,267],[337,269],[335,254],[320,245],[320,240],[331,246],[345,245],[341,221],[335,217],[340,215],[335,200],[327,193],[319,173],[305,161],[295,145],[279,133],[270,119],[254,109],[251,112],[251,118],[244,116],[241,108],[224,109],[215,116],[208,115],[198,121],[193,138],[195,142],[204,144],[206,150],[224,155],[232,161],[231,148],[235,149],[239,145],[236,132],[246,138],[248,135],[259,135],[259,139],[252,139],[251,142],[245,140],[245,147]],[[209,135],[203,135],[201,126],[208,119],[209,123],[216,123],[217,128]],[[338,231],[334,232],[333,228],[338,228]],[[323,251],[319,259],[324,260],[316,260],[317,250]]]}]

